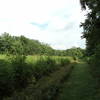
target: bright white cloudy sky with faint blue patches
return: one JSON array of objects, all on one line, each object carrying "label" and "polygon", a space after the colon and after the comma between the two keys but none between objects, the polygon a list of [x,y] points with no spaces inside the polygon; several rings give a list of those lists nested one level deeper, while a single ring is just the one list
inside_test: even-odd
[{"label": "bright white cloudy sky with faint blue patches", "polygon": [[0,34],[47,43],[54,49],[85,48],[79,0],[0,0]]}]

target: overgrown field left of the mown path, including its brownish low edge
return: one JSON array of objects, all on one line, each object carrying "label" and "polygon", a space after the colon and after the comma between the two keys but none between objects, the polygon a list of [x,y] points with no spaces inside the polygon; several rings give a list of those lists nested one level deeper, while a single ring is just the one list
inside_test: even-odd
[{"label": "overgrown field left of the mown path, including its brownish low edge", "polygon": [[72,62],[71,57],[0,55],[0,100],[52,99]]}]

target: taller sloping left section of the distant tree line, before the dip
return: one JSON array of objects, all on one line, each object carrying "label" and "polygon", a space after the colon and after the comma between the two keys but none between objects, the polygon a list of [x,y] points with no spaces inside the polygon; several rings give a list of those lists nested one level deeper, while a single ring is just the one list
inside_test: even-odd
[{"label": "taller sloping left section of the distant tree line, before the dip", "polygon": [[28,39],[24,36],[10,36],[9,33],[5,32],[0,36],[0,53],[52,55],[53,49],[37,40]]}]

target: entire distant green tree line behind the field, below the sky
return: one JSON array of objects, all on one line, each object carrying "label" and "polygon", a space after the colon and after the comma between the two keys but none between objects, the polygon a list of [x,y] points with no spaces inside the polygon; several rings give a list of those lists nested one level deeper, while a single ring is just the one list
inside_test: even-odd
[{"label": "entire distant green tree line behind the field, below the sky", "polygon": [[67,50],[55,50],[38,40],[29,39],[25,36],[11,36],[6,32],[0,36],[0,54],[76,56],[81,58],[84,53],[84,49],[76,47]]}]

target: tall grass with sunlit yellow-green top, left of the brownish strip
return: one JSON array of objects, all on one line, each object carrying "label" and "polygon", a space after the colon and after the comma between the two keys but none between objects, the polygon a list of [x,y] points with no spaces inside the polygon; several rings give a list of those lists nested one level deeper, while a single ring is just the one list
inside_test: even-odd
[{"label": "tall grass with sunlit yellow-green top, left of the brownish strip", "polygon": [[0,99],[2,100],[3,96],[10,96],[14,91],[21,91],[33,79],[37,82],[69,63],[70,59],[65,57],[17,55],[7,58],[2,55],[0,59]]}]

